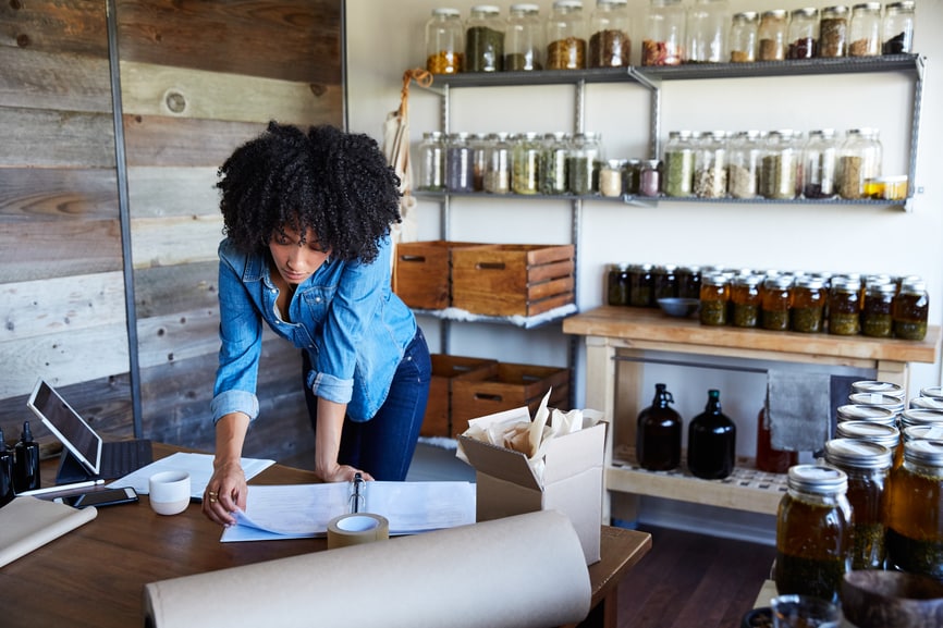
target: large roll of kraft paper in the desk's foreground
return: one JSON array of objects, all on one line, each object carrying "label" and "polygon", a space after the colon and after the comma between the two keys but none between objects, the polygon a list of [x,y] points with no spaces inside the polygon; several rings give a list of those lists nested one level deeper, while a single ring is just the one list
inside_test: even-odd
[{"label": "large roll of kraft paper in the desk's foreground", "polygon": [[565,515],[541,510],[144,588],[154,628],[546,628],[589,613]]}]

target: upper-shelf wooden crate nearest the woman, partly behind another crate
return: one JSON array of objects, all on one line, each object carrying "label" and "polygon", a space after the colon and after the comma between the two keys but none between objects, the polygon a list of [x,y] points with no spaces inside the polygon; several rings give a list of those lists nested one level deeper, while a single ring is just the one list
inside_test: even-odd
[{"label": "upper-shelf wooden crate nearest the woman, partly behind another crate", "polygon": [[434,239],[396,245],[393,292],[418,309],[444,309],[452,305],[451,253],[480,243]]}]

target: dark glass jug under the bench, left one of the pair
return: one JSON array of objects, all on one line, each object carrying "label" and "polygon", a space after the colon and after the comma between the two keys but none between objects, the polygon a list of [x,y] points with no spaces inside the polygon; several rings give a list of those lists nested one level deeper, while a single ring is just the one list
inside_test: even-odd
[{"label": "dark glass jug under the bench, left one of the pair", "polygon": [[669,407],[673,403],[665,385],[656,384],[651,405],[638,414],[635,453],[642,469],[669,471],[681,465],[682,418]]}]

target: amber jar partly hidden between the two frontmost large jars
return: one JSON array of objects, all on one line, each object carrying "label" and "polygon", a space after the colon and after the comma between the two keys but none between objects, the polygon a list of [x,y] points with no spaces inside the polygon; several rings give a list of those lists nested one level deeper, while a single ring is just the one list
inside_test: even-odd
[{"label": "amber jar partly hidden between the two frontmost large jars", "polygon": [[850,439],[825,443],[825,463],[848,476],[848,503],[854,512],[852,569],[883,569],[884,509],[892,450]]}]

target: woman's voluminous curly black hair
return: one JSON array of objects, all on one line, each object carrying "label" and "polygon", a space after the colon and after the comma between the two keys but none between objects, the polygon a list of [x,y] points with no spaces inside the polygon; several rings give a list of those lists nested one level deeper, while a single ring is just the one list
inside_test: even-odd
[{"label": "woman's voluminous curly black hair", "polygon": [[368,135],[269,122],[219,169],[224,233],[244,253],[311,229],[331,257],[370,263],[400,216],[400,178]]}]

